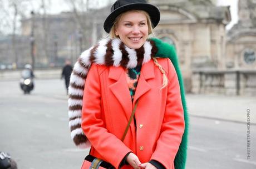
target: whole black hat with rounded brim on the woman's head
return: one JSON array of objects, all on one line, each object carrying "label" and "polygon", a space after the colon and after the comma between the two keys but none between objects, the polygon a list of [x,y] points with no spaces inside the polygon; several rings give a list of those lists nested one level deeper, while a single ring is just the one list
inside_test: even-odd
[{"label": "whole black hat with rounded brim on the woman's head", "polygon": [[132,9],[142,10],[149,14],[153,27],[160,21],[160,11],[156,6],[149,4],[146,0],[117,0],[111,7],[111,13],[104,22],[104,30],[109,33],[115,19],[119,14]]}]

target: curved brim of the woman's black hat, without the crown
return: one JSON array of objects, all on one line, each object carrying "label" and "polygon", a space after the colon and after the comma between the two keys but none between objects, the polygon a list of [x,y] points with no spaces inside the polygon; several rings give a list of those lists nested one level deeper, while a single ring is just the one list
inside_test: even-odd
[{"label": "curved brim of the woman's black hat, without the crown", "polygon": [[130,10],[142,10],[149,14],[152,26],[155,28],[160,21],[160,11],[156,6],[149,3],[132,3],[115,9],[104,22],[104,30],[109,33],[117,16]]}]

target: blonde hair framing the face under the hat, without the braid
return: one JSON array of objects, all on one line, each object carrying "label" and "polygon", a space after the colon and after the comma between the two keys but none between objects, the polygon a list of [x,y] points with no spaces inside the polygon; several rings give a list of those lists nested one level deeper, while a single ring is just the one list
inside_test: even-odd
[{"label": "blonde hair framing the face under the hat, without the braid", "polygon": [[112,27],[110,29],[110,32],[109,32],[111,38],[118,38],[118,36],[116,36],[116,34],[115,34],[115,30],[116,30],[117,24],[119,23],[119,21],[122,18],[122,16],[124,16],[124,14],[126,14],[128,12],[139,12],[139,13],[145,14],[145,16],[147,18],[147,27],[149,28],[149,34],[151,34],[151,33],[154,34],[153,33],[153,29],[154,28],[152,27],[152,23],[151,23],[149,14],[147,12],[145,12],[145,11],[142,11],[142,10],[130,10],[130,11],[126,11],[124,13],[121,13],[119,16],[116,17],[115,22],[112,25]]}]

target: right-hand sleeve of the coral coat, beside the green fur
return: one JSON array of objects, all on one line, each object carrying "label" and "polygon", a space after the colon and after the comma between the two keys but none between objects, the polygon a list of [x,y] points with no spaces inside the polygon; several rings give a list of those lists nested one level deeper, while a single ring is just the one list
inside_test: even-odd
[{"label": "right-hand sleeve of the coral coat, beside the green fur", "polygon": [[167,60],[168,96],[160,136],[151,160],[156,160],[166,169],[170,169],[179,150],[185,124],[178,76],[170,59]]}]

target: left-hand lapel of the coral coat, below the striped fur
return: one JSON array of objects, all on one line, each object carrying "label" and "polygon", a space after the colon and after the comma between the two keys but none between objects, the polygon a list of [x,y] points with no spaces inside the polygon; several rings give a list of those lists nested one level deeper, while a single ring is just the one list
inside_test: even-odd
[{"label": "left-hand lapel of the coral coat, below the striped fur", "polygon": [[132,103],[124,68],[121,66],[110,66],[109,78],[116,80],[115,83],[109,86],[109,88],[117,100],[119,100],[125,111],[126,119],[129,121],[132,112]]}]

